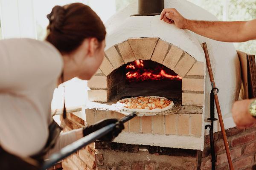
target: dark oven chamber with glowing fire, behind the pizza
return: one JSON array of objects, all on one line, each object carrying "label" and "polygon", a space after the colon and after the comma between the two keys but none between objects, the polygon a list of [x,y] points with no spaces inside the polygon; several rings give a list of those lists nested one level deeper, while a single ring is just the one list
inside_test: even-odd
[{"label": "dark oven chamber with glowing fire, behind the pizza", "polygon": [[181,99],[181,80],[171,69],[151,60],[136,60],[122,67],[125,87],[119,99],[133,96],[162,96]]}]

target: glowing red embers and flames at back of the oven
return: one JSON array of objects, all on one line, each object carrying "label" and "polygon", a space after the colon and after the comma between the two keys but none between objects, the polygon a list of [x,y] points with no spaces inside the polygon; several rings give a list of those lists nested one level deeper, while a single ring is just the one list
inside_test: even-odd
[{"label": "glowing red embers and flames at back of the oven", "polygon": [[151,60],[135,60],[126,65],[126,78],[128,82],[145,80],[178,80],[182,77],[171,69]]}]

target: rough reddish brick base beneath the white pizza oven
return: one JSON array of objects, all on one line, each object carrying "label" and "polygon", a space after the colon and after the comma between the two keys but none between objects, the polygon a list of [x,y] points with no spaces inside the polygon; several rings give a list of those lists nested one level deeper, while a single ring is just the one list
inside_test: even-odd
[{"label": "rough reddish brick base beneath the white pizza oven", "polygon": [[[82,127],[84,122],[69,113],[66,129]],[[256,170],[256,127],[226,130],[235,170]],[[214,133],[216,170],[228,170],[221,132]],[[120,143],[95,142],[62,162],[64,170],[210,170],[209,135],[204,150],[185,150]]]}]

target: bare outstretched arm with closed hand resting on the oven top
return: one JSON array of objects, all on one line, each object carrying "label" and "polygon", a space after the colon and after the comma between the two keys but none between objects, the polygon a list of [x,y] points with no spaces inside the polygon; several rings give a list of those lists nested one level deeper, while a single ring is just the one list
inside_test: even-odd
[{"label": "bare outstretched arm with closed hand resting on the oven top", "polygon": [[256,20],[251,21],[198,21],[184,18],[175,8],[163,9],[160,20],[175,23],[204,37],[224,42],[244,42],[256,39]]}]

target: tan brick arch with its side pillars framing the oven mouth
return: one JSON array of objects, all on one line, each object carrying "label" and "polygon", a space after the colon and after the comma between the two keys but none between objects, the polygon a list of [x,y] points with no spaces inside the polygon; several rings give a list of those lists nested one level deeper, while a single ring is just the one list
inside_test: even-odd
[{"label": "tan brick arch with its side pillars framing the oven mouth", "polygon": [[110,74],[122,65],[140,59],[160,63],[183,78],[182,105],[204,106],[205,63],[158,37],[129,38],[106,50],[102,65],[88,81],[89,99],[108,102],[115,91],[108,81]]}]

